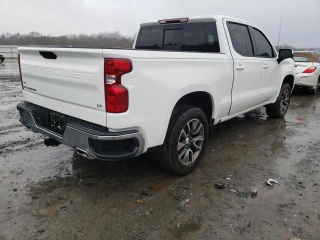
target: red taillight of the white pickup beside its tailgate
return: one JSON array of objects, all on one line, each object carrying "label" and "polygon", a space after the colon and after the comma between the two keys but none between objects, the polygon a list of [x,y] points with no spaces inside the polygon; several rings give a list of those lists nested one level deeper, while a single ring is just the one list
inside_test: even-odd
[{"label": "red taillight of the white pickup beside its tailgate", "polygon": [[128,89],[121,85],[121,76],[132,71],[129,59],[104,58],[105,111],[124,112],[128,109]]}]

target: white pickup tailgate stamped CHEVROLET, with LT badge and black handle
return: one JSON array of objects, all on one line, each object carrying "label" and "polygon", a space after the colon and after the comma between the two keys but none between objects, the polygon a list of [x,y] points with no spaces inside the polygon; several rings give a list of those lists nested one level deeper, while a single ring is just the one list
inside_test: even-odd
[{"label": "white pickup tailgate stamped CHEVROLET, with LT badge and black handle", "polygon": [[18,52],[24,100],[106,125],[102,49],[26,46]]}]

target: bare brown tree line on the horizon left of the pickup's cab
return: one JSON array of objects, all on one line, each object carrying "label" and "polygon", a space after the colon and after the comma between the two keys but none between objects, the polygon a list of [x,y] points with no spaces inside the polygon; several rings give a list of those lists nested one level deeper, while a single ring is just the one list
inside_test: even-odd
[{"label": "bare brown tree line on the horizon left of the pickup's cab", "polygon": [[97,34],[69,34],[61,36],[42,35],[31,31],[27,34],[2,33],[0,45],[71,45],[71,46],[100,46],[100,47],[132,47],[133,36],[121,35],[119,31],[100,32]]}]

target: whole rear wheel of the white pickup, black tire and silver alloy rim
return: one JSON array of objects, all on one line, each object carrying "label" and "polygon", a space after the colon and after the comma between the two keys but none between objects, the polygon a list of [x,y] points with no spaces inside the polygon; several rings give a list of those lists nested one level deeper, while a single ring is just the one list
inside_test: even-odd
[{"label": "whole rear wheel of the white pickup, black tire and silver alloy rim", "polygon": [[208,137],[208,122],[198,107],[176,106],[162,148],[155,157],[165,170],[185,175],[200,162]]}]

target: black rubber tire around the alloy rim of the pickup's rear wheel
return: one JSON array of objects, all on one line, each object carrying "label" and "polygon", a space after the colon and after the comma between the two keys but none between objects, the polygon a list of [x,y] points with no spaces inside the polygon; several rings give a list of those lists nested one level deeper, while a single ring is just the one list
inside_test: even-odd
[{"label": "black rubber tire around the alloy rim of the pickup's rear wheel", "polygon": [[[195,123],[196,121],[194,121],[194,119],[199,120],[199,122],[203,126],[203,136],[201,135],[201,137],[203,137],[203,141],[200,141],[202,142],[200,150],[195,151],[195,153],[193,152],[190,153],[192,149],[192,142],[191,142],[192,140],[190,140],[190,143],[189,143],[191,145],[188,145],[188,144],[185,144],[186,143],[186,138],[185,138],[184,149],[189,150],[189,152],[187,154],[188,155],[187,164],[183,164],[178,155],[178,151],[179,151],[178,144],[182,144],[181,143],[181,141],[183,140],[182,130],[187,129],[185,128],[187,127],[186,124],[191,124],[192,121]],[[197,128],[198,126],[197,124],[198,123],[195,124],[194,130]],[[200,125],[199,125],[199,129],[202,129],[200,128]],[[199,130],[198,133],[202,133],[202,131]],[[196,136],[194,137],[194,139],[195,138]],[[175,107],[175,109],[172,112],[163,146],[161,147],[160,150],[154,152],[155,158],[164,170],[174,175],[185,175],[190,171],[192,171],[199,164],[203,156],[203,153],[205,151],[207,138],[208,138],[208,122],[204,112],[198,107],[193,107],[188,105],[178,105]],[[190,133],[190,139],[192,139],[191,133]],[[193,143],[193,147],[194,146],[196,146],[195,142]],[[194,156],[197,153],[197,156],[195,157],[193,162],[189,162],[189,156],[190,156],[189,153],[192,156]]]}]

